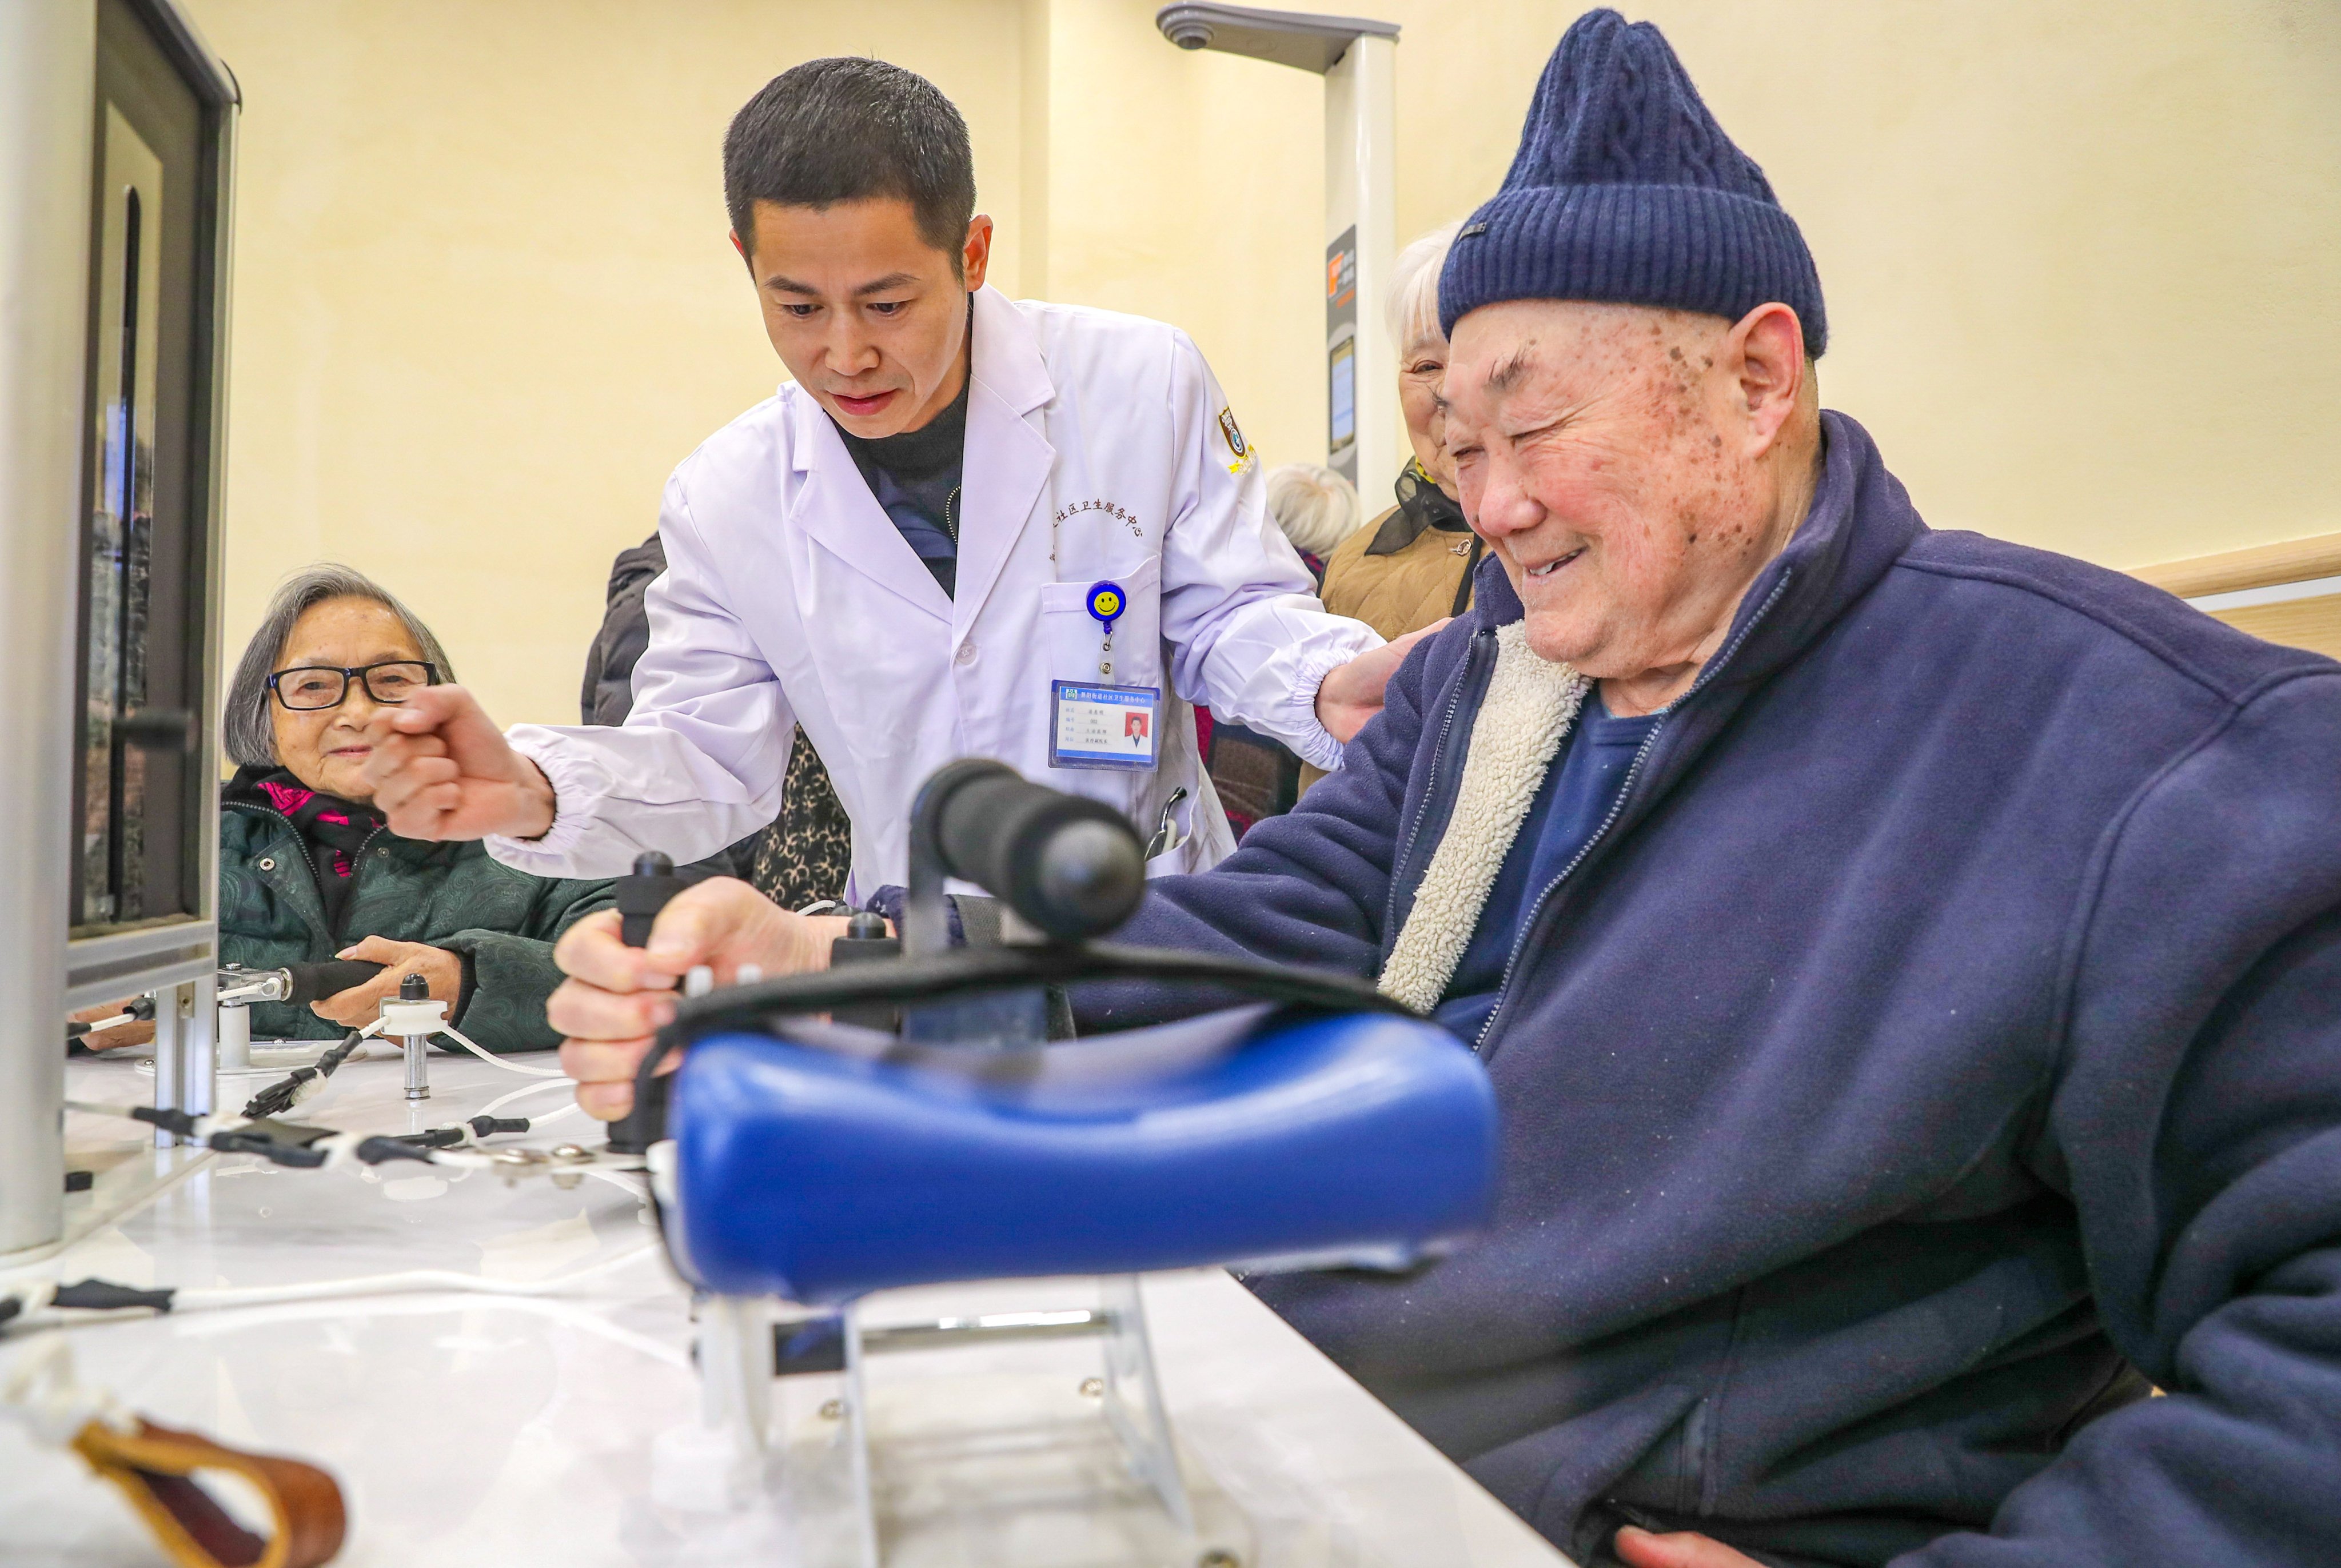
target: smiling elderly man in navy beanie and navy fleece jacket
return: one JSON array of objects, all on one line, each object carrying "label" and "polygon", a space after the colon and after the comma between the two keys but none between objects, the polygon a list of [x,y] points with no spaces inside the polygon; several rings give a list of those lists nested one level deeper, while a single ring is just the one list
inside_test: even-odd
[{"label": "smiling elderly man in navy beanie and navy fleece jacket", "polygon": [[[2341,667],[1929,531],[1615,12],[1440,309],[1477,606],[1126,936],[1444,1020],[1501,1212],[1259,1294],[1583,1563],[2341,1561]],[[670,920],[670,969],[824,962],[737,885]],[[630,1074],[651,971],[564,962],[567,1060]]]}]

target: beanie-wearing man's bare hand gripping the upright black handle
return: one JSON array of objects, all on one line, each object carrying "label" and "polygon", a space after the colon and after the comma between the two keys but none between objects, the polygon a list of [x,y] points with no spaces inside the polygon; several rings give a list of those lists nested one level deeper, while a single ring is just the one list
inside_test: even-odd
[{"label": "beanie-wearing man's bare hand gripping the upright black handle", "polygon": [[[843,915],[796,915],[733,878],[674,894],[644,948],[620,941],[618,910],[578,920],[552,948],[569,978],[545,1002],[578,1105],[602,1121],[632,1109],[634,1070],[651,1037],[674,1023],[674,983],[691,969],[707,964],[716,985],[730,985],[744,964],[768,978],[829,969],[829,943],[843,934]],[[670,1055],[660,1072],[674,1065]]]}]

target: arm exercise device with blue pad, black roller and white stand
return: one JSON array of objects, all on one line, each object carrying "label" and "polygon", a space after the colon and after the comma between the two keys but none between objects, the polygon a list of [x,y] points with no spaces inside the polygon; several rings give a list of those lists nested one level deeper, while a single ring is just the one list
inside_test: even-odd
[{"label": "arm exercise device with blue pad, black roller and white stand", "polygon": [[[1004,903],[1004,945],[950,945],[946,878]],[[681,1004],[637,1091],[684,1051],[648,1161],[667,1254],[702,1292],[702,1423],[667,1435],[667,1470],[702,1493],[721,1479],[705,1505],[784,1495],[808,1561],[892,1561],[871,1357],[1089,1339],[1084,1390],[1140,1484],[1117,1528],[1149,1561],[1248,1561],[1241,1517],[1189,1495],[1135,1275],[1421,1266],[1489,1215],[1494,1095],[1470,1051],[1362,981],[1098,941],[1142,889],[1114,812],[953,763],[913,807],[899,957]],[[1093,983],[1222,1006],[1049,1041],[1049,990]],[[836,1020],[890,1009],[899,1032]],[[1093,1304],[864,1313],[876,1292],[1063,1275],[1093,1275]],[[791,1374],[840,1381],[831,1442],[784,1442],[773,1390]],[[955,1460],[1016,1486],[983,1421],[906,1463]]]}]

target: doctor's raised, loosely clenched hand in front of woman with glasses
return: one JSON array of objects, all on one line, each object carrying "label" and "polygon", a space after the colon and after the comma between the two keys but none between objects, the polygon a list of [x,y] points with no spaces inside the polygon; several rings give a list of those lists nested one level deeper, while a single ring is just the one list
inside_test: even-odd
[{"label": "doctor's raised, loosely clenched hand in front of woman with glasses", "polygon": [[377,709],[365,740],[375,810],[400,838],[538,838],[552,826],[552,784],[461,686]]}]

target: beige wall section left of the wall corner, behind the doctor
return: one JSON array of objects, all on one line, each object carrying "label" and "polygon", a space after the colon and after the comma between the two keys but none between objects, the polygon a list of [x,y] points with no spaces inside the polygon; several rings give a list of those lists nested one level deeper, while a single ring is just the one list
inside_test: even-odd
[{"label": "beige wall section left of the wall corner, behind the doctor", "polygon": [[492,714],[576,723],[611,557],[782,377],[726,241],[721,140],[796,61],[883,51],[939,82],[1016,225],[1016,0],[192,9],[246,96],[232,651],[286,569],[342,559]]}]

